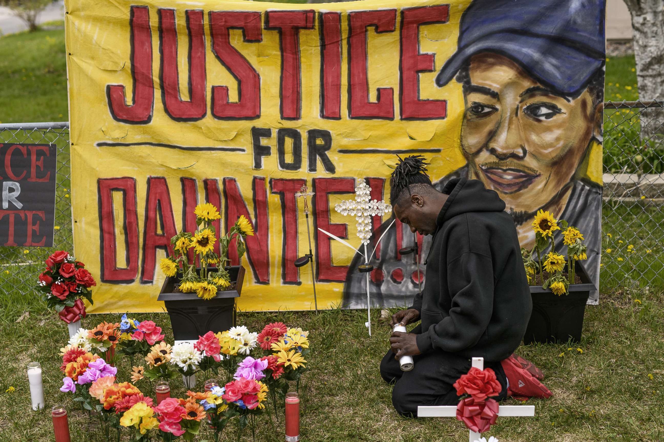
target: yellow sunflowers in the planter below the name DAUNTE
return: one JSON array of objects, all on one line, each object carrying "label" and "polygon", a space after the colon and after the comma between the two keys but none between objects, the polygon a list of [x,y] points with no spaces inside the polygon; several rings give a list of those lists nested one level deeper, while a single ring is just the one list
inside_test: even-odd
[{"label": "yellow sunflowers in the planter below the name DAUNTE", "polygon": [[[228,259],[228,246],[236,239],[238,258],[242,258],[246,247],[244,238],[254,236],[254,228],[244,215],[240,215],[234,226],[219,238],[219,252],[214,252],[216,231],[212,222],[221,218],[217,208],[206,202],[194,209],[198,229],[191,232],[180,232],[171,238],[175,256],[163,258],[160,267],[168,277],[180,273],[179,289],[183,293],[196,293],[199,298],[212,299],[218,289],[225,289],[230,285],[230,277],[226,271]],[[190,259],[189,249],[195,252],[195,258]],[[201,273],[197,272],[196,260],[201,263]],[[191,261],[191,263],[190,263]],[[210,271],[208,265],[215,265],[216,270]]]}]

